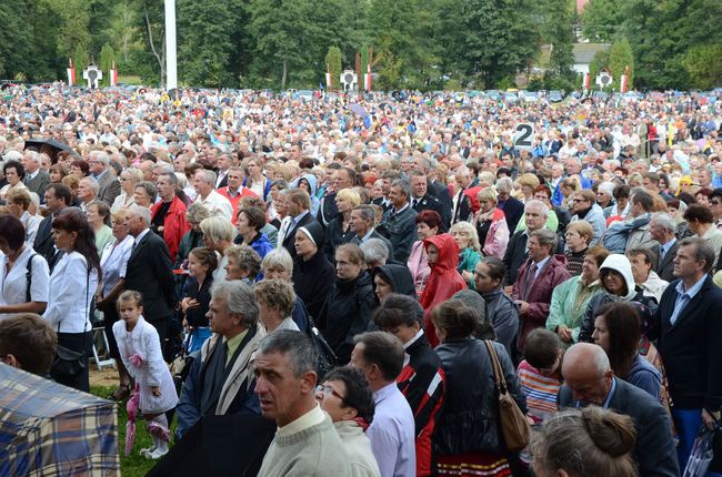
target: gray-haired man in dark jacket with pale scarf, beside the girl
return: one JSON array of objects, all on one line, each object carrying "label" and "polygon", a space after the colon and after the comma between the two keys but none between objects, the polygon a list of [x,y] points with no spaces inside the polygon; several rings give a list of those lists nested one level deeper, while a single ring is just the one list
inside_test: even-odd
[{"label": "gray-haired man in dark jacket with pale scarf, beside the girl", "polygon": [[259,326],[253,290],[241,281],[218,282],[211,290],[211,332],[193,361],[178,407],[178,438],[208,415],[261,412],[253,394],[252,356],[265,337]]}]

